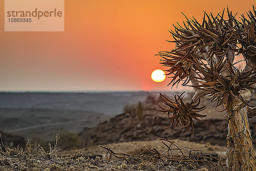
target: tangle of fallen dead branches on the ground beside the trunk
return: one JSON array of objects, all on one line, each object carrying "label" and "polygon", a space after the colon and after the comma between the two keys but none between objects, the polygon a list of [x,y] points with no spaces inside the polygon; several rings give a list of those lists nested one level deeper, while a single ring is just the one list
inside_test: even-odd
[{"label": "tangle of fallen dead branches on the ground beside the trunk", "polygon": [[[175,143],[170,140],[158,138],[167,147],[167,151],[160,153],[156,148],[148,148],[149,154],[122,154],[115,153],[111,148],[100,145],[106,151],[106,157],[115,157],[116,159],[125,160],[130,163],[140,163],[153,162],[157,165],[159,162],[176,162],[176,163],[186,163],[193,165],[194,168],[206,167],[210,171],[227,171],[225,166],[226,158],[224,156],[213,157],[210,154],[203,154],[201,150],[196,150],[193,148],[179,148]],[[172,148],[173,147],[173,148]],[[172,155],[172,151],[179,151],[178,155]],[[166,155],[167,154],[167,155]]]}]

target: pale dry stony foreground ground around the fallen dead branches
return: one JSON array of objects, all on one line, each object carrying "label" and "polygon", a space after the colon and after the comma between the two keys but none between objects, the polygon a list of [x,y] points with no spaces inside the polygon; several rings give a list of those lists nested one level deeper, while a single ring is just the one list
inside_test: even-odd
[{"label": "pale dry stony foreground ground around the fallen dead branches", "polygon": [[[209,144],[202,145],[181,140],[173,140],[172,143],[179,144],[180,148],[186,146],[194,146],[201,149],[202,152],[214,151],[221,154],[225,148],[218,145]],[[208,171],[204,168],[204,164],[193,162],[175,161],[173,158],[152,157],[146,152],[146,148],[157,148],[162,154],[166,151],[166,147],[161,142],[156,141],[140,141],[140,142],[123,142],[117,144],[106,145],[113,149],[117,149],[116,153],[125,154],[142,154],[137,159],[128,160],[109,160],[109,158],[101,159],[101,157],[89,158],[84,154],[89,151],[103,152],[104,149],[84,148],[81,151],[71,150],[58,152],[58,148],[52,147],[50,151],[44,151],[40,146],[36,146],[30,142],[26,143],[26,147],[22,148],[3,148],[0,149],[0,170],[1,171]],[[141,147],[138,149],[138,147]],[[131,148],[131,149],[128,149]],[[145,150],[143,150],[145,148]],[[176,147],[175,147],[176,148]],[[88,151],[88,149],[90,149]],[[135,150],[132,150],[135,149]],[[137,149],[137,150],[136,150]],[[210,154],[212,154],[210,152]],[[68,154],[69,153],[69,154]],[[106,154],[106,153],[105,153]],[[164,153],[163,153],[164,154]],[[173,156],[179,154],[179,151],[173,152]],[[150,160],[145,160],[143,156],[149,156]],[[59,156],[59,157],[58,157]],[[138,156],[138,155],[137,155]],[[108,155],[109,157],[109,155]]]}]

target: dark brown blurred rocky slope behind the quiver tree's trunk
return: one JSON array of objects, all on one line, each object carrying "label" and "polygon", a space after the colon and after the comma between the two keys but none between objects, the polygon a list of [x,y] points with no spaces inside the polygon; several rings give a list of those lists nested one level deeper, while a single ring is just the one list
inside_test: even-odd
[{"label": "dark brown blurred rocky slope behind the quiver tree's trunk", "polygon": [[[84,128],[79,135],[84,139],[87,145],[156,140],[158,137],[162,137],[199,143],[209,142],[212,145],[226,146],[226,119],[212,119],[208,123],[194,122],[195,135],[191,135],[191,133],[180,135],[182,130],[179,130],[179,127],[176,129],[162,129],[169,124],[169,121],[157,118],[154,114],[146,115],[143,120],[139,120],[136,116],[129,113],[122,113],[108,121],[100,123],[97,127]],[[250,120],[250,129],[253,139],[255,139],[256,119]]]}]

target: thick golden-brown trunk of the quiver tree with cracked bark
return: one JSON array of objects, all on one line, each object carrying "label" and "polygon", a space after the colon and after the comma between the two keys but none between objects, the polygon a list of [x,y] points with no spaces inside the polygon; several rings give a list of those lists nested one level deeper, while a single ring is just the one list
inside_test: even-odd
[{"label": "thick golden-brown trunk of the quiver tree with cracked bark", "polygon": [[230,171],[256,171],[246,107],[228,113],[227,167]]}]

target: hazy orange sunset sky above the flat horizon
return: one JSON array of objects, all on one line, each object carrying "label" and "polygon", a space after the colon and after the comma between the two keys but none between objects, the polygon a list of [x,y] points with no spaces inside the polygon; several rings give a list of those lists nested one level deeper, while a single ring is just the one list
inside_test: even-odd
[{"label": "hazy orange sunset sky above the flat horizon", "polygon": [[[64,32],[4,32],[0,0],[0,91],[169,90],[154,55],[174,46],[168,30],[184,12],[202,18],[229,5],[245,13],[253,0],[65,0]],[[256,5],[256,4],[254,4]]]}]

